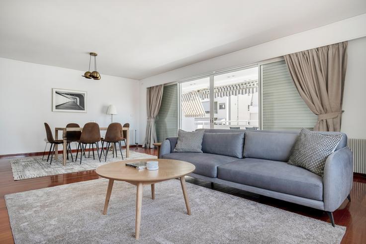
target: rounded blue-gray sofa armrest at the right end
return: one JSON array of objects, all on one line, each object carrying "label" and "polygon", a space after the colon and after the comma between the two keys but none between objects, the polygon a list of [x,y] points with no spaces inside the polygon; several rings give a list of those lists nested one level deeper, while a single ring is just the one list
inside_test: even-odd
[{"label": "rounded blue-gray sofa armrest at the right end", "polygon": [[323,178],[324,210],[333,212],[341,206],[352,189],[353,153],[344,147],[333,152],[325,162]]}]

